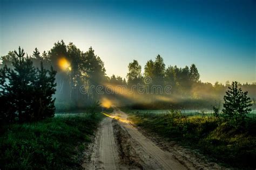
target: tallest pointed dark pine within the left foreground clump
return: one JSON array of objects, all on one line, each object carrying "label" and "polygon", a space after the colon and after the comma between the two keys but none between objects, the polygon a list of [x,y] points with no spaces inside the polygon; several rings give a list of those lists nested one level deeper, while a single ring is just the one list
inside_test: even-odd
[{"label": "tallest pointed dark pine within the left foreground clump", "polygon": [[12,62],[14,69],[10,70],[9,95],[11,103],[15,108],[19,121],[30,121],[33,117],[31,103],[33,95],[33,84],[36,80],[36,69],[33,67],[31,58],[24,58],[24,50],[19,47],[18,53],[15,51],[16,58]]}]

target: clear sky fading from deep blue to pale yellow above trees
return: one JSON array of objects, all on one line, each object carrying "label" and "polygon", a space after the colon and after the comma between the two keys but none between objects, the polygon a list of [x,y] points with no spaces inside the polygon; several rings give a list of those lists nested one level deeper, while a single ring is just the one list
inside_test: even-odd
[{"label": "clear sky fading from deep blue to pale yellow above trees", "polygon": [[167,66],[195,63],[203,82],[256,82],[256,1],[0,0],[0,55],[42,53],[54,42],[92,46],[107,75],[126,76],[160,54]]}]

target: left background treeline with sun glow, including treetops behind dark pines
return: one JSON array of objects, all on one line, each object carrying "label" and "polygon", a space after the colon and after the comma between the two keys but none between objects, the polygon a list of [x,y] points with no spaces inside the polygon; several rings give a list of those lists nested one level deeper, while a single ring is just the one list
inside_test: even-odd
[{"label": "left background treeline with sun glow, including treetops behind dark pines", "polygon": [[[99,100],[96,94],[83,95],[79,93],[82,85],[98,85],[106,81],[103,61],[95,55],[92,48],[82,52],[72,42],[65,45],[64,41],[58,41],[48,51],[42,54],[35,48],[32,56],[29,56],[35,67],[40,67],[42,62],[45,68],[53,67],[57,71],[56,97],[57,110],[69,110],[86,108]],[[3,66],[13,67],[15,53],[9,52],[2,56]]]}]

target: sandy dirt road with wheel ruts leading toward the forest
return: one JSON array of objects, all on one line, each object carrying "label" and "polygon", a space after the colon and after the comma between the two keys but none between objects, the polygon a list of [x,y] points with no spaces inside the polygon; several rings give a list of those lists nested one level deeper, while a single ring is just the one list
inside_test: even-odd
[{"label": "sandy dirt road with wheel ruts leading toward the forest", "polygon": [[82,165],[85,169],[220,169],[195,159],[182,147],[169,150],[159,145],[135,128],[123,111],[115,109],[105,115],[95,142],[88,148],[91,155]]}]

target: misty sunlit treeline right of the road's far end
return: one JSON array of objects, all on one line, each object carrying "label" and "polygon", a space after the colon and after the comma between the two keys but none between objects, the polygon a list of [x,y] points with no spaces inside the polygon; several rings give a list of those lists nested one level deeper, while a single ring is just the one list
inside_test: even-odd
[{"label": "misty sunlit treeline right of the road's far end", "polygon": [[[200,74],[196,65],[190,67],[178,68],[177,66],[166,66],[163,58],[157,55],[156,59],[149,60],[144,66],[144,74],[142,74],[142,66],[137,60],[129,63],[129,73],[127,73],[127,85],[132,86],[138,83],[144,83],[145,88],[149,88],[149,92],[145,95],[133,98],[137,103],[132,104],[135,108],[151,108],[151,109],[211,109],[213,105],[222,105],[223,96],[231,83],[226,81],[225,84],[215,82],[214,84],[200,81]],[[149,79],[150,78],[150,79]],[[112,76],[112,82],[124,84],[124,80],[120,77]],[[159,95],[155,87],[163,87],[163,94]],[[164,87],[171,86],[171,94],[166,93]],[[256,97],[256,82],[252,84],[238,83],[238,87],[248,91],[248,96],[254,103]],[[151,90],[151,91],[150,91]]]}]

